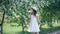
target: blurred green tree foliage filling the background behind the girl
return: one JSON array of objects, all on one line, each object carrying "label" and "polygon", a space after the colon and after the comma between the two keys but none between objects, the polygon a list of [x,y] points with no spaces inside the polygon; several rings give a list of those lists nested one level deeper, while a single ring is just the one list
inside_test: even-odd
[{"label": "blurred green tree foliage filling the background behind the girl", "polygon": [[38,7],[42,25],[53,27],[53,23],[59,23],[60,0],[0,0],[0,16],[5,12],[4,23],[18,23],[23,28],[27,26],[31,6]]}]

